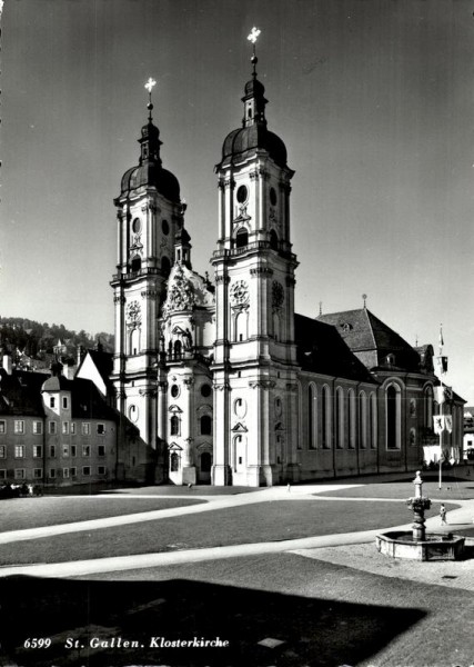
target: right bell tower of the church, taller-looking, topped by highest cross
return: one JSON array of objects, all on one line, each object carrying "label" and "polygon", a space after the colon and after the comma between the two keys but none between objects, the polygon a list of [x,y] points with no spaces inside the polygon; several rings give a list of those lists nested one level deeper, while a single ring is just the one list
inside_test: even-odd
[{"label": "right bell tower of the church, taller-looking, topped by highest cross", "polygon": [[296,476],[296,349],[290,181],[268,129],[264,87],[244,88],[242,127],[224,140],[219,178],[214,345],[214,484],[273,485]]}]

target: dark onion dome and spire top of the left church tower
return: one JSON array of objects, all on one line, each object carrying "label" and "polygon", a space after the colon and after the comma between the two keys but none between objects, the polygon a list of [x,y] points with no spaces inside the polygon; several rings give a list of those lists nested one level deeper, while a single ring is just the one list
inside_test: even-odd
[{"label": "dark onion dome and spire top of the left church tower", "polygon": [[141,187],[155,188],[157,191],[170,201],[180,201],[180,183],[177,177],[163,169],[160,158],[160,130],[153,125],[151,110],[153,104],[148,103],[149,118],[147,125],[141,129],[138,139],[141,151],[137,167],[128,169],[122,177],[121,196]]}]

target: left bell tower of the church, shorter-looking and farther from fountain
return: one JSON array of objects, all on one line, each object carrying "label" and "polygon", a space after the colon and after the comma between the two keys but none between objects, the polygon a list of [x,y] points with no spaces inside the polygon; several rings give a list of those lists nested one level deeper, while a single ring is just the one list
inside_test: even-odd
[{"label": "left bell tower of the church, shorter-looking and farther from fountain", "polygon": [[[117,408],[137,427],[141,445],[147,446],[142,450],[149,452],[157,446],[155,365],[160,345],[157,320],[185,209],[178,179],[162,166],[160,131],[152,119],[154,84],[151,78],[145,84],[149,115],[138,140],[139,163],[125,171],[120,195],[114,199],[118,272],[111,281],[115,307],[112,380]],[[129,461],[133,474],[152,478],[153,466],[134,459]]]}]

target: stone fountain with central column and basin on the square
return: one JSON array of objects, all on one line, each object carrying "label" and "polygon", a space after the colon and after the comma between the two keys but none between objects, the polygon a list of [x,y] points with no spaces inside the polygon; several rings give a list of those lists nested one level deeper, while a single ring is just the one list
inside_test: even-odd
[{"label": "stone fountain with central column and basin on the square", "polygon": [[412,530],[391,530],[375,538],[381,554],[391,558],[412,560],[457,560],[464,552],[464,537],[451,532],[430,532],[426,535],[425,510],[430,509],[430,498],[423,497],[423,480],[416,472],[415,495],[406,500],[413,510]]}]

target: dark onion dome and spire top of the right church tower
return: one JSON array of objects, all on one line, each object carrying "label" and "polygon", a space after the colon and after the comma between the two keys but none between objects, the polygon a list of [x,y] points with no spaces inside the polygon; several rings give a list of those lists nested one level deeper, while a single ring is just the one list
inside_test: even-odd
[{"label": "dark onion dome and spire top of the right church tower", "polygon": [[246,153],[253,153],[255,150],[265,150],[279,167],[286,167],[285,145],[280,137],[266,128],[265,106],[268,100],[264,97],[265,88],[256,78],[256,56],[253,56],[252,79],[245,83],[242,98],[244,108],[242,127],[225,137],[222,146],[222,160],[218,165],[218,169],[229,166],[235,158],[245,158]]}]

